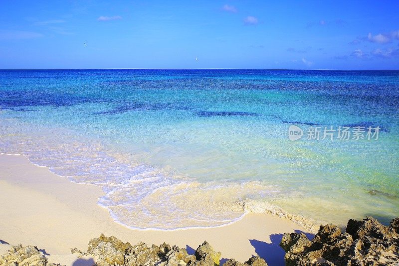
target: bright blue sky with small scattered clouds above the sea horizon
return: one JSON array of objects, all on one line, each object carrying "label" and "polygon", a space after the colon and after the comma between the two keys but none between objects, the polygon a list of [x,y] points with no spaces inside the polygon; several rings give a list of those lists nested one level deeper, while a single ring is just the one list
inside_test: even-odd
[{"label": "bright blue sky with small scattered clouds above the sea horizon", "polygon": [[398,10],[397,0],[2,0],[0,68],[399,69]]}]

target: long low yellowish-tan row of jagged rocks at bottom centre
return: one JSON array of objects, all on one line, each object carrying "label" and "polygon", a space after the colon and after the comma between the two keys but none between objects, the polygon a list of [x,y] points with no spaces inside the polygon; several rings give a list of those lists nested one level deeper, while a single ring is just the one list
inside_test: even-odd
[{"label": "long low yellowish-tan row of jagged rocks at bottom centre", "polygon": [[[71,249],[71,252],[93,256],[97,266],[218,266],[221,258],[220,252],[216,252],[206,241],[197,248],[194,255],[189,255],[186,249],[171,247],[166,243],[150,247],[141,242],[132,246],[104,235],[90,240],[87,252],[78,249]],[[229,260],[224,265],[267,266],[259,257],[251,258],[245,264]]]}]

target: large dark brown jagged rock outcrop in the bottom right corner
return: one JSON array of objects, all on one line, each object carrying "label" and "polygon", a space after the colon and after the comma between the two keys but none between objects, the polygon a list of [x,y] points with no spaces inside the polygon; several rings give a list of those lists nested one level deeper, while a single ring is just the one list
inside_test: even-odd
[{"label": "large dark brown jagged rock outcrop in the bottom right corner", "polygon": [[320,226],[310,241],[303,233],[284,234],[280,247],[286,266],[399,265],[399,218],[387,227],[373,217],[349,220],[345,233]]}]

